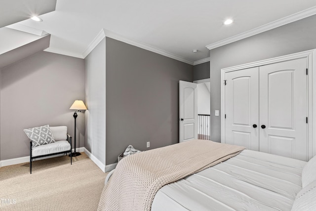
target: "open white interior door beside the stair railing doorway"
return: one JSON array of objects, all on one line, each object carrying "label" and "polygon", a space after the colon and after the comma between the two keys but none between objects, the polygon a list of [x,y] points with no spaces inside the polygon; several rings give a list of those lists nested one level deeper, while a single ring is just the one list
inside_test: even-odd
[{"label": "open white interior door beside the stair railing doorway", "polygon": [[179,81],[179,142],[197,139],[197,84]]}]

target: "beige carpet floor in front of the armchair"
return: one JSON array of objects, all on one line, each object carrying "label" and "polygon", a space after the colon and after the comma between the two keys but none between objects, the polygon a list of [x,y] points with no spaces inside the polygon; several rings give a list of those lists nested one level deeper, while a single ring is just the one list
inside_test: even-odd
[{"label": "beige carpet floor in front of the armchair", "polygon": [[84,153],[0,168],[0,211],[96,211],[107,173]]}]

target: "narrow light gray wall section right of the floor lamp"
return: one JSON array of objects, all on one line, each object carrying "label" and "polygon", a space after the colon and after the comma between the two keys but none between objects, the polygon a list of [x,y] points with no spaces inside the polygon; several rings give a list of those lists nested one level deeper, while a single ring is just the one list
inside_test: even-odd
[{"label": "narrow light gray wall section right of the floor lamp", "polygon": [[105,62],[103,39],[85,58],[85,137],[84,147],[105,165]]}]

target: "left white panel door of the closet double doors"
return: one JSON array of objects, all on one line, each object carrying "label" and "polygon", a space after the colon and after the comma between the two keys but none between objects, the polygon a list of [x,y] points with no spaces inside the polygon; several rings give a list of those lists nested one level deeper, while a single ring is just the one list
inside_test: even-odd
[{"label": "left white panel door of the closet double doors", "polygon": [[259,68],[225,73],[225,143],[259,150]]}]

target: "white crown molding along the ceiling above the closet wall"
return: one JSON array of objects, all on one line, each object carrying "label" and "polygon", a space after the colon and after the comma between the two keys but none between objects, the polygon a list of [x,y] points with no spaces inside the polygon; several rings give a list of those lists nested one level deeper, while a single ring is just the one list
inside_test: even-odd
[{"label": "white crown molding along the ceiling above the closet wall", "polygon": [[236,41],[242,40],[244,38],[248,38],[248,37],[260,34],[262,32],[269,31],[271,29],[275,29],[277,27],[280,27],[280,26],[283,26],[285,24],[301,20],[303,18],[307,18],[307,17],[315,15],[315,14],[316,14],[316,6],[311,7],[309,9],[306,9],[306,10],[303,10],[301,12],[294,13],[292,15],[286,16],[284,18],[278,19],[278,20],[273,21],[271,23],[268,23],[268,24],[265,24],[263,26],[257,27],[255,29],[249,30],[247,32],[238,34],[236,36],[227,38],[225,40],[222,40],[222,41],[219,41],[219,42],[214,42],[212,44],[206,45],[206,47],[209,50],[211,50],[211,49],[214,49],[216,47],[220,47],[220,46],[223,46],[225,44],[236,42]]}]

